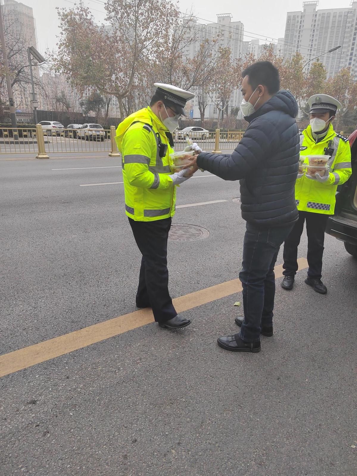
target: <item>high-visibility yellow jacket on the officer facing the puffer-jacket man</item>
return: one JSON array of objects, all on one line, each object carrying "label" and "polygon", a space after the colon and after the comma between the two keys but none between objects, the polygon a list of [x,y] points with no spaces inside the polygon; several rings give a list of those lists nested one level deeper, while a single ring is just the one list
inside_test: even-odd
[{"label": "high-visibility yellow jacket on the officer facing the puffer-jacket man", "polygon": [[[125,213],[135,221],[173,217],[176,187],[172,174],[173,153],[163,123],[150,107],[134,112],[116,129],[115,141],[122,154]],[[159,143],[167,144],[163,158]]]}]

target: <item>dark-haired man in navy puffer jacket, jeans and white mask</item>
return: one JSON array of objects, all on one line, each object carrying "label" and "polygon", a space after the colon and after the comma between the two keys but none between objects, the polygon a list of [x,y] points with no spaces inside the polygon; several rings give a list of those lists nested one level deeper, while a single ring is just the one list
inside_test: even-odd
[{"label": "dark-haired man in navy puffer jacket, jeans and white mask", "polygon": [[[235,352],[259,352],[260,334],[273,335],[274,266],[281,244],[298,218],[295,181],[299,134],[297,104],[279,91],[278,70],[258,61],[243,71],[241,110],[249,126],[232,154],[199,153],[194,168],[224,180],[240,180],[242,217],[246,220],[242,271],[244,319],[234,336],[218,345]],[[200,149],[196,150],[200,152]]]}]

